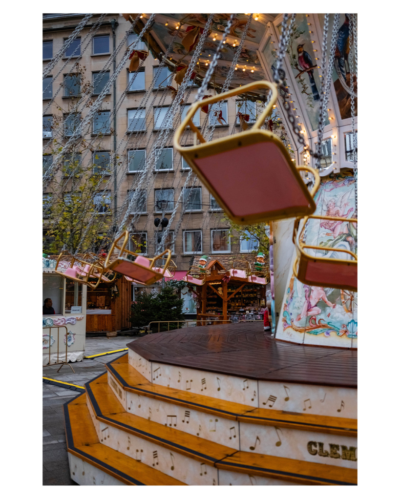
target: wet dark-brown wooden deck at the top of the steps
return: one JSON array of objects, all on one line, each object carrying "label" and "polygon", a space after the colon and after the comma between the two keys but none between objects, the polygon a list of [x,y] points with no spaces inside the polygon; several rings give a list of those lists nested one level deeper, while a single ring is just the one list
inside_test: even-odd
[{"label": "wet dark-brown wooden deck at the top of the steps", "polygon": [[262,323],[153,333],[127,344],[148,361],[258,380],[357,387],[357,351],[271,338]]}]

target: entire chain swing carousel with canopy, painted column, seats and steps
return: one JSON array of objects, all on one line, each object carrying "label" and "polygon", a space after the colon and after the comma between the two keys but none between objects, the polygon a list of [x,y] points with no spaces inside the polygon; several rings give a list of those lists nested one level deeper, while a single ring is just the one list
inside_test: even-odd
[{"label": "entire chain swing carousel with canopy, painted column, seats and steps", "polygon": [[[262,128],[266,112],[237,136],[204,139],[190,124],[212,71],[200,75],[198,98],[182,123],[194,132],[194,145],[179,149],[182,130],[177,127],[174,146],[237,223],[267,217],[273,241],[271,291],[279,311],[274,337],[257,323],[240,323],[130,342],[127,354],[108,363],[106,373],[85,385],[85,394],[65,405],[71,477],[79,484],[356,484],[356,15],[291,14],[290,20],[287,14],[123,16],[137,22],[139,30],[140,23],[154,20],[148,43],[155,53],[161,47],[165,52],[160,40],[173,36],[164,36],[171,18],[179,31],[186,26],[182,43],[167,54],[175,62],[190,59],[193,49],[197,58],[209,40],[208,51],[214,50],[208,70],[217,66],[223,45],[234,47],[240,35],[244,58],[256,45],[255,79],[263,81],[241,88],[238,83],[230,91],[223,88],[227,78],[221,64],[215,71],[222,91],[217,97],[223,98],[225,90],[237,95],[268,89],[265,110],[275,105],[287,111],[290,144],[300,145],[295,158],[287,155],[279,139]],[[318,54],[315,64],[308,51]],[[190,64],[191,59],[188,73]],[[231,73],[235,67],[232,63]],[[318,69],[321,81],[315,78]],[[275,100],[277,93],[282,104]],[[180,102],[179,91],[177,98]],[[265,175],[262,191],[258,181],[251,184],[250,208],[240,190],[233,197],[221,188],[218,170],[223,175],[226,162],[231,190],[237,189],[232,168]],[[271,191],[282,189],[279,178],[286,189],[277,199]],[[123,237],[120,233],[114,240],[119,252]],[[137,258],[118,257],[113,268],[108,257],[92,265],[82,259],[68,272],[84,280],[122,266],[132,279],[153,279],[154,261],[147,265]],[[202,286],[216,276],[250,282],[255,275],[240,265],[229,270],[215,261],[200,265],[189,269],[188,283]],[[164,272],[166,266],[161,266]],[[343,272],[345,266],[351,272]]]}]

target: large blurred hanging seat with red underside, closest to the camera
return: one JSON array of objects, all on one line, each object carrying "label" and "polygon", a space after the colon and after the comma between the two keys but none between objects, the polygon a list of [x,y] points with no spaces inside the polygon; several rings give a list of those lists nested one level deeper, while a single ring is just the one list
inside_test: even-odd
[{"label": "large blurred hanging seat with red underside, closest to the camera", "polygon": [[[206,142],[192,122],[196,110],[256,88],[268,88],[272,95],[251,129]],[[228,217],[240,225],[304,216],[315,210],[313,195],[319,186],[318,172],[308,166],[296,168],[281,140],[261,129],[276,98],[274,83],[258,81],[200,100],[191,105],[173,137],[173,146]],[[195,145],[182,147],[179,141],[187,126],[194,132]],[[200,144],[196,144],[197,139]],[[311,191],[299,170],[314,175]]]}]

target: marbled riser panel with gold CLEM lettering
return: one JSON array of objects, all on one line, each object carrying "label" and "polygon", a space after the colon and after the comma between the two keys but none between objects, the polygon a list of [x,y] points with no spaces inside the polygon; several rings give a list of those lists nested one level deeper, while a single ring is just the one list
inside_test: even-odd
[{"label": "marbled riser panel with gold CLEM lettering", "polygon": [[240,448],[265,455],[357,468],[355,437],[241,422]]}]

